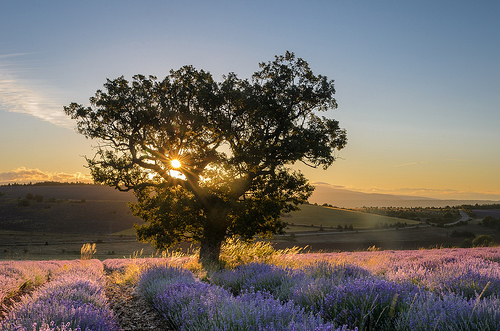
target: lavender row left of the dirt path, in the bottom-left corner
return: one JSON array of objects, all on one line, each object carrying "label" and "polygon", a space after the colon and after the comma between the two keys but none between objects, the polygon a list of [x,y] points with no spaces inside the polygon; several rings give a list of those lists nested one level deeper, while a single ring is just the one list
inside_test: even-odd
[{"label": "lavender row left of the dirt path, in the bottom-left corner", "polygon": [[25,296],[0,324],[0,330],[116,330],[104,290],[102,263],[72,266],[67,272]]}]

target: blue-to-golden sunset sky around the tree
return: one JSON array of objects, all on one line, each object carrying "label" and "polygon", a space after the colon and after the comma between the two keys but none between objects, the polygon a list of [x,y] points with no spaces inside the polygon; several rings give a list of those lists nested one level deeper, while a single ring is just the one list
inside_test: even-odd
[{"label": "blue-to-golden sunset sky around the tree", "polygon": [[107,78],[190,64],[250,78],[287,50],[335,80],[347,130],[312,183],[500,200],[498,1],[0,2],[0,184],[86,181],[63,111]]}]

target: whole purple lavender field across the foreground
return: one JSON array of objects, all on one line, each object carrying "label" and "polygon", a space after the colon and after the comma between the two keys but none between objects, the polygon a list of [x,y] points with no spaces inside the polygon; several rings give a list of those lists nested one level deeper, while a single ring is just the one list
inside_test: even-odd
[{"label": "whole purple lavender field across the foreground", "polygon": [[126,330],[110,282],[164,330],[500,330],[499,262],[500,247],[274,254],[211,272],[194,257],[8,261],[0,330]]}]

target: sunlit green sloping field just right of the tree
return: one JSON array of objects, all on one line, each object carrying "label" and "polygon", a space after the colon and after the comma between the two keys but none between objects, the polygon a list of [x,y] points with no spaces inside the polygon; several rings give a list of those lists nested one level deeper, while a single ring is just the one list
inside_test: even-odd
[{"label": "sunlit green sloping field just right of the tree", "polygon": [[[420,222],[408,219],[368,214],[340,208],[303,205],[300,209],[300,211],[293,212],[283,218],[284,221],[290,224],[287,232],[311,231],[311,227],[322,227],[325,230],[329,228],[335,229],[339,225],[342,227],[352,225],[355,230],[365,230],[397,223],[407,223],[408,225],[420,224]],[[317,229],[314,231],[317,231]]]}]

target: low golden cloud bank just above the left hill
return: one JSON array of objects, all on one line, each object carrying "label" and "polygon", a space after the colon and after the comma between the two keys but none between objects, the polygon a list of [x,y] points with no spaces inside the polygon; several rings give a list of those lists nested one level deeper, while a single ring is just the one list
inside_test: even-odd
[{"label": "low golden cloud bank just above the left hill", "polygon": [[0,184],[12,183],[30,183],[30,182],[84,182],[91,183],[92,178],[81,172],[65,173],[65,172],[46,172],[40,169],[28,169],[20,167],[12,171],[0,172]]}]

